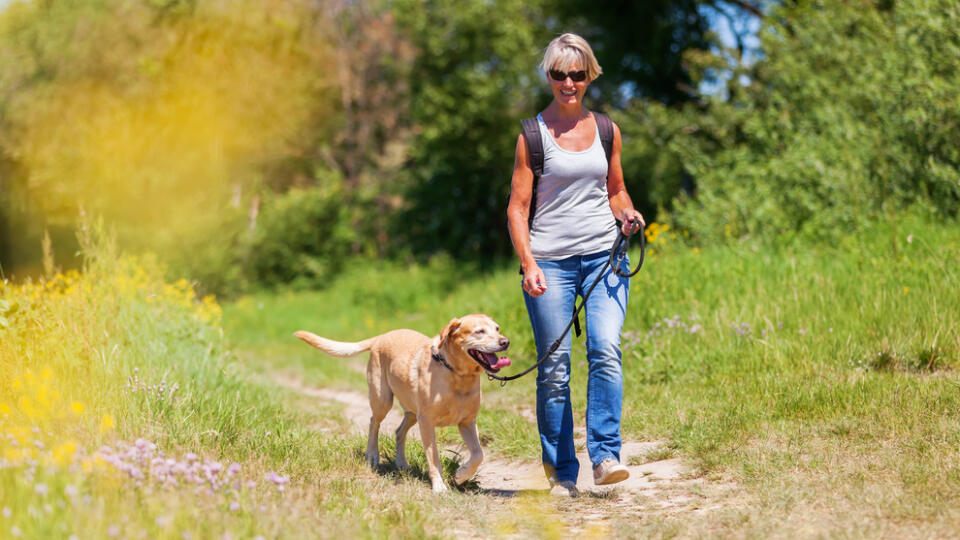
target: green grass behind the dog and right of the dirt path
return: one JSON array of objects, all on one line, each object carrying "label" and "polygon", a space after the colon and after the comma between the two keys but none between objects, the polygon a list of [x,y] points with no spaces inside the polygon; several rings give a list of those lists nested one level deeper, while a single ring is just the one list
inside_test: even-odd
[{"label": "green grass behind the dog and right of the dirt path", "polygon": [[[957,518],[949,502],[960,498],[960,227],[910,217],[896,231],[878,224],[835,244],[654,243],[624,326],[625,437],[668,440],[671,454],[772,511],[733,510],[718,529],[665,519],[624,530],[766,535],[803,530],[798,512],[815,513],[818,534],[949,530],[940,527]],[[512,264],[488,274],[449,261],[430,272],[357,265],[323,291],[242,299],[227,307],[225,326],[271,369],[363,389],[355,370],[287,336],[301,328],[342,340],[398,327],[435,334],[477,311],[511,338],[511,369],[535,360]],[[578,341],[572,392],[581,422],[583,358]],[[515,414],[534,408],[533,377],[484,389],[485,446],[537,459],[535,428]],[[851,513],[863,519],[846,521]]]}]

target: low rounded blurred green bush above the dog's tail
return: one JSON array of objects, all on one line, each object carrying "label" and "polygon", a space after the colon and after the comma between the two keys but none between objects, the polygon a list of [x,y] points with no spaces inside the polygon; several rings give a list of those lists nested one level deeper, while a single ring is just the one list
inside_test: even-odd
[{"label": "low rounded blurred green bush above the dog's tail", "polygon": [[216,212],[196,235],[171,236],[178,245],[162,251],[170,254],[171,273],[221,296],[259,287],[323,288],[351,256],[372,255],[373,224],[361,219],[372,205],[330,176],[316,187],[268,194],[252,210]]}]

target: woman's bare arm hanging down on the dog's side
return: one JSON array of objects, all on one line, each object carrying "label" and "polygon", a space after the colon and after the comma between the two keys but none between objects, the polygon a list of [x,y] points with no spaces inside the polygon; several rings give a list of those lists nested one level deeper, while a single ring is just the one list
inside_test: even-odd
[{"label": "woman's bare arm hanging down on the dog's side", "polygon": [[530,199],[533,197],[533,169],[523,134],[517,138],[513,161],[513,179],[510,181],[510,202],[507,204],[507,226],[513,250],[523,269],[523,290],[531,296],[540,296],[547,290],[547,280],[530,250]]}]

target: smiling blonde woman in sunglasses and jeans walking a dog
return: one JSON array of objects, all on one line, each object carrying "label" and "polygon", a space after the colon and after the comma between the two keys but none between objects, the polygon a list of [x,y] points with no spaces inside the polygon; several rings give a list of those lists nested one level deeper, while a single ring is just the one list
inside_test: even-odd
[{"label": "smiling blonde woman in sunglasses and jeans walking a dog", "polygon": [[[643,216],[633,207],[620,167],[620,130],[613,126],[609,162],[597,120],[583,107],[600,65],[590,45],[563,34],[547,46],[540,67],[553,90],[553,102],[537,120],[543,146],[543,174],[536,186],[524,135],[517,139],[510,203],[510,238],[520,258],[523,292],[542,356],[564,331],[578,295],[597,278],[617,236],[615,219],[631,234]],[[528,225],[531,198],[536,201]],[[587,451],[597,485],[630,476],[620,464],[620,411],[623,375],[620,330],[629,283],[608,270],[586,304]],[[580,464],[573,443],[570,406],[570,335],[537,373],[537,427],[543,468],[555,492],[577,496]],[[559,486],[559,487],[556,487]]]}]

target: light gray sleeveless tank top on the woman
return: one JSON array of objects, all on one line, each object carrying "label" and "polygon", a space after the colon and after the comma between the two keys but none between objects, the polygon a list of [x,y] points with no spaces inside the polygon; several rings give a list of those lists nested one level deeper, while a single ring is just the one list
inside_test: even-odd
[{"label": "light gray sleeveless tank top on the woman", "polygon": [[617,223],[607,199],[607,156],[600,132],[590,148],[560,148],[538,114],[543,141],[543,176],[537,184],[537,208],[530,250],[539,260],[607,251],[617,239]]}]

